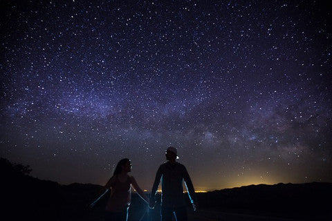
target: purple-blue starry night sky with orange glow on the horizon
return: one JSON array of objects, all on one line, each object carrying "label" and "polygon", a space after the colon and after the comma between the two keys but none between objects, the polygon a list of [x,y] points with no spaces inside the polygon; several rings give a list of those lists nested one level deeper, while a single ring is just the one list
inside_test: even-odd
[{"label": "purple-blue starry night sky with orange glow on the horizon", "polygon": [[[1,1],[0,154],[60,184],[332,182],[324,1]],[[330,22],[329,22],[330,21]]]}]

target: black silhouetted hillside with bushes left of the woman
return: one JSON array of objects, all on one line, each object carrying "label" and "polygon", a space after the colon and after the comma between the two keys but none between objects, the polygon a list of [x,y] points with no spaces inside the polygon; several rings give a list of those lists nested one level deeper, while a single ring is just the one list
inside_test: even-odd
[{"label": "black silhouetted hillside with bushes left of the woman", "polygon": [[[86,204],[102,186],[93,184],[61,185],[29,175],[29,166],[0,159],[1,201],[8,218],[19,220],[75,220],[84,217]],[[73,218],[73,219],[71,219]]]}]

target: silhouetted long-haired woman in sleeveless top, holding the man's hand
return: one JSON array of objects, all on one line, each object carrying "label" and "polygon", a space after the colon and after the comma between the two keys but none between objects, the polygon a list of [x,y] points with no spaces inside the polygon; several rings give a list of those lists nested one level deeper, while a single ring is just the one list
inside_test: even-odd
[{"label": "silhouetted long-haired woman in sleeveless top, holding the man's hand", "polygon": [[127,221],[128,209],[131,201],[131,190],[133,189],[148,202],[147,196],[143,193],[140,186],[138,186],[135,178],[128,173],[131,171],[131,162],[124,158],[116,165],[116,170],[113,176],[104,186],[106,189],[111,189],[111,195],[107,201],[105,220]]}]

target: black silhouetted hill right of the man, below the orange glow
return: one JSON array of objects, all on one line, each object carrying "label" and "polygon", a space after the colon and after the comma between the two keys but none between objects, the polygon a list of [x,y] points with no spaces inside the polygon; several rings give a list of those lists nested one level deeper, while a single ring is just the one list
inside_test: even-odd
[{"label": "black silhouetted hill right of the man, below the orange glow", "polygon": [[199,193],[201,209],[308,218],[331,215],[332,183],[250,185]]}]

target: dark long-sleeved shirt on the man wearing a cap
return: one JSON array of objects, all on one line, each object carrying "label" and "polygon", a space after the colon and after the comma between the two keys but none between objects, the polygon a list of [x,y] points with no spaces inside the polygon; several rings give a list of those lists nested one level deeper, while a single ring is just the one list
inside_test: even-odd
[{"label": "dark long-sleeved shirt on the man wearing a cap", "polygon": [[185,206],[185,198],[183,194],[183,181],[187,186],[187,191],[192,202],[196,202],[196,195],[192,180],[183,164],[176,162],[172,165],[170,162],[161,164],[156,173],[154,186],[151,195],[154,197],[161,179],[161,200],[163,206]]}]

